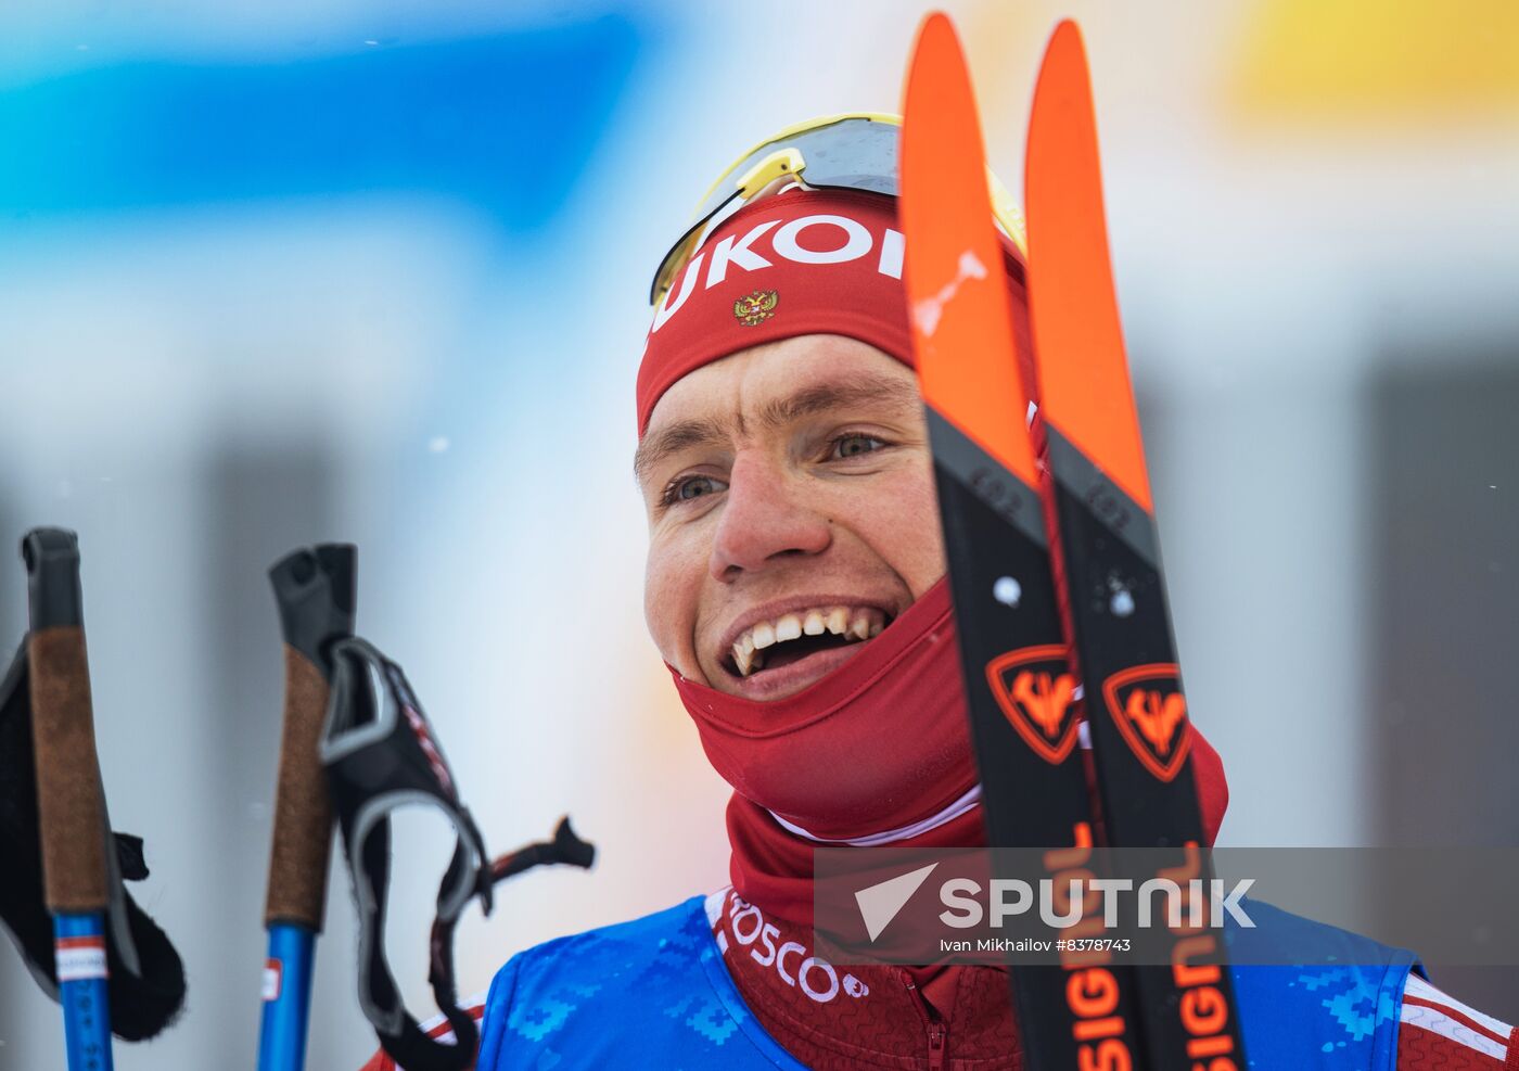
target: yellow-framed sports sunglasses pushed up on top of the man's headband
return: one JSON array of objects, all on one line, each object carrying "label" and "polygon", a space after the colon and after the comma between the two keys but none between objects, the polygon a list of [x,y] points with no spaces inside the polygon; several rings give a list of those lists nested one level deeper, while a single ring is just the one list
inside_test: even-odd
[{"label": "yellow-framed sports sunglasses pushed up on top of the man's headband", "polygon": [[[898,196],[898,141],[902,120],[883,112],[848,112],[788,126],[741,155],[702,197],[691,225],[659,261],[649,304],[658,305],[711,229],[750,201],[791,184],[811,190],[861,190]],[[1024,214],[990,170],[992,216],[1019,252]]]}]

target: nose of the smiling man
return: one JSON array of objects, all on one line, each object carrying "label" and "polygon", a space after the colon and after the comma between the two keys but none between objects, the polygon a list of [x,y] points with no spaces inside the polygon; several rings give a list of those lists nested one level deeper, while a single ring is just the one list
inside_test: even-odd
[{"label": "nose of the smiling man", "polygon": [[763,454],[734,459],[712,542],[712,577],[732,582],[778,559],[826,550],[832,539],[828,518],[805,498],[784,462]]}]

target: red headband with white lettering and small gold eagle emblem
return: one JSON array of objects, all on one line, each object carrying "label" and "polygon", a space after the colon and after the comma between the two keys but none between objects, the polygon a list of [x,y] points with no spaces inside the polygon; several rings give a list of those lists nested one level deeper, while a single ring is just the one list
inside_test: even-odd
[{"label": "red headband with white lettering and small gold eagle emblem", "polygon": [[[703,365],[799,334],[843,334],[907,366],[896,201],[790,190],[743,207],[708,235],[665,295],[638,368],[638,434],[670,386]],[[1024,272],[1009,257],[1018,336],[1028,349]]]}]

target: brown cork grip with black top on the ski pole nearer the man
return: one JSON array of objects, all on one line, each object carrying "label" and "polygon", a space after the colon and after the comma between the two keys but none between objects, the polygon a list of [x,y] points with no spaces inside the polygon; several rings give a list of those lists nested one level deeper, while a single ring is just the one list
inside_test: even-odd
[{"label": "brown cork grip with black top on the ski pole nearer the man", "polygon": [[354,630],[354,548],[298,550],[269,570],[284,633],[284,729],[275,788],[264,922],[321,931],[333,807],[317,747],[327,717],[328,652]]}]

